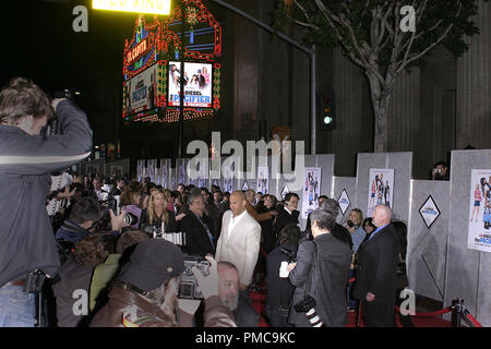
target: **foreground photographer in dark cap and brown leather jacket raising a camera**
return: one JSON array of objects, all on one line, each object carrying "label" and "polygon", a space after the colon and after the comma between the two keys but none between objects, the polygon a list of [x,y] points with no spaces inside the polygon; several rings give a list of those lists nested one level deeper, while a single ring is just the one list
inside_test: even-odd
[{"label": "foreground photographer in dark cap and brown leather jacket raising a camera", "polygon": [[[206,277],[193,268],[205,298],[204,326],[236,327],[233,315],[218,297],[217,263],[211,257],[208,262]],[[160,239],[140,242],[91,327],[191,327],[199,302],[176,298],[183,272],[184,257],[177,245]]]}]

